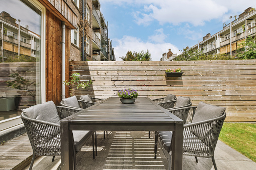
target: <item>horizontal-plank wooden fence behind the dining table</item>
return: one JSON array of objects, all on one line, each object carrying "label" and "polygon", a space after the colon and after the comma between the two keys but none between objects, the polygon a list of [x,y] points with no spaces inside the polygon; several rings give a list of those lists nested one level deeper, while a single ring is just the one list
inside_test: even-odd
[{"label": "horizontal-plank wooden fence behind the dining table", "polygon": [[[166,78],[165,69],[181,67],[182,77]],[[116,96],[118,90],[136,89],[151,99],[175,94],[187,96],[193,105],[200,101],[225,106],[226,121],[256,121],[256,60],[171,62],[84,62],[71,61],[70,74],[93,80],[86,90],[99,98]]]}]

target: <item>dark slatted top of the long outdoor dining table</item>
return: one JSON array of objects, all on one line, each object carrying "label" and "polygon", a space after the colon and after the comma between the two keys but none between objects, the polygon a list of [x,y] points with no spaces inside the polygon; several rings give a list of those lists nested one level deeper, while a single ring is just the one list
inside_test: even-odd
[{"label": "dark slatted top of the long outdoor dining table", "polygon": [[138,97],[133,104],[123,104],[118,97],[110,97],[61,121],[71,123],[181,123],[148,97]]}]

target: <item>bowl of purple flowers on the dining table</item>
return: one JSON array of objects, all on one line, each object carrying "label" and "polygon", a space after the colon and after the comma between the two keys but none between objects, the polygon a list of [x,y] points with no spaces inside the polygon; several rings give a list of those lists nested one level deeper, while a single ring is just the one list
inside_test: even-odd
[{"label": "bowl of purple flowers on the dining table", "polygon": [[117,92],[120,101],[124,104],[134,103],[136,98],[138,97],[138,92],[134,89],[123,89]]}]

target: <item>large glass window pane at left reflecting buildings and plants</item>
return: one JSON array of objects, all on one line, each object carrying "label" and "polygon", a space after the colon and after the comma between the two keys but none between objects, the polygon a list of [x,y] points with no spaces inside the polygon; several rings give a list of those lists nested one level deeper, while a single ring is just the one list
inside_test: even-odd
[{"label": "large glass window pane at left reflecting buildings and plants", "polygon": [[28,1],[1,2],[0,70],[0,121],[41,103],[41,12]]}]

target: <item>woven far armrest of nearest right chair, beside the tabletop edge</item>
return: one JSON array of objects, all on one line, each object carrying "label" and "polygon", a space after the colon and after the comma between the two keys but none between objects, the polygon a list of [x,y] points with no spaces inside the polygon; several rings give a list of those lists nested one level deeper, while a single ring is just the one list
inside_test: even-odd
[{"label": "woven far armrest of nearest right chair, beside the tabletop edge", "polygon": [[184,121],[184,124],[191,123],[197,106],[187,106],[166,109]]}]

